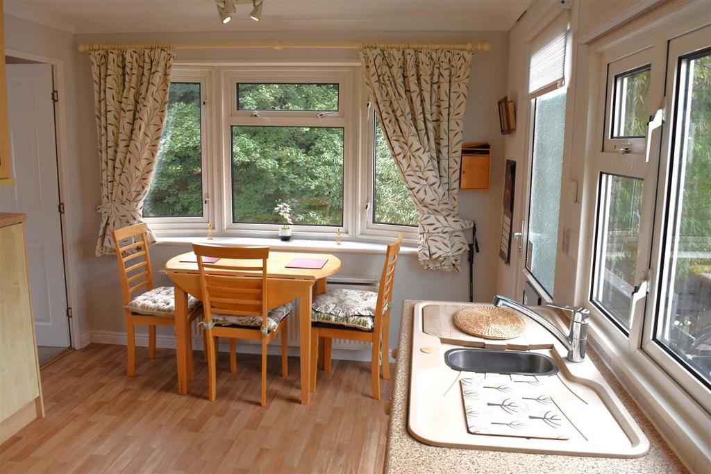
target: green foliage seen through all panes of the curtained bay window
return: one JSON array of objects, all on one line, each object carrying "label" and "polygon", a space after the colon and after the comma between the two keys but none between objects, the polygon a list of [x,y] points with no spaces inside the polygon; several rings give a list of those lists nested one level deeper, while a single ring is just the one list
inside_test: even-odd
[{"label": "green foliage seen through all panes of the curtained bay window", "polygon": [[[338,109],[336,84],[240,84],[241,109]],[[146,217],[202,215],[201,94],[198,83],[172,82]],[[328,126],[232,126],[232,219],[294,225],[343,225],[344,131]],[[375,222],[417,225],[417,212],[378,127]]]}]

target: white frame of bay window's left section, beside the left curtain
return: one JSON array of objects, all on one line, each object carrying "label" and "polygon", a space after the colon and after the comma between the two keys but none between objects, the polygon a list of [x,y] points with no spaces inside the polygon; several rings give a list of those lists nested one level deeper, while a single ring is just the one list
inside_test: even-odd
[{"label": "white frame of bay window's left section, beside the left curtain", "polygon": [[211,179],[212,166],[209,160],[213,156],[213,140],[210,130],[213,129],[213,68],[199,68],[194,66],[173,66],[171,82],[193,82],[200,84],[201,95],[201,153],[203,180],[203,215],[201,217],[142,217],[141,220],[156,232],[156,235],[188,235],[195,230],[206,230],[209,222],[213,222],[213,207],[210,205],[213,193],[213,180]]}]

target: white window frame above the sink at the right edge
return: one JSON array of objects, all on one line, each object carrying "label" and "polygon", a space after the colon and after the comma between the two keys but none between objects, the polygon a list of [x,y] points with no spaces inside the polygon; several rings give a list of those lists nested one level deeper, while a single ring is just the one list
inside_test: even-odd
[{"label": "white window frame above the sink at the right edge", "polygon": [[[682,19],[683,21],[681,21]],[[671,23],[672,21],[673,23]],[[587,283],[579,286],[579,294],[583,293],[580,299],[591,313],[592,338],[596,343],[602,343],[603,347],[614,354],[621,364],[629,365],[634,377],[643,377],[647,381],[653,380],[651,384],[653,387],[651,386],[649,390],[652,393],[664,394],[665,397],[665,399],[658,399],[658,395],[658,404],[661,404],[668,413],[677,413],[683,416],[682,420],[677,419],[675,422],[681,426],[689,427],[693,433],[703,433],[707,429],[707,423],[711,420],[710,391],[653,340],[653,330],[655,329],[653,325],[656,322],[656,312],[658,311],[656,282],[659,280],[660,274],[658,269],[661,269],[660,246],[663,244],[661,242],[662,226],[665,222],[668,166],[671,159],[669,134],[672,117],[676,113],[674,110],[675,97],[666,97],[663,101],[661,98],[665,84],[668,96],[675,93],[676,58],[673,51],[670,51],[669,58],[667,57],[669,41],[695,31],[708,23],[709,21],[705,17],[700,16],[692,8],[690,11],[665,18],[665,21],[658,23],[659,28],[654,28],[651,31],[646,29],[636,34],[634,38],[625,38],[624,41],[617,38],[613,43],[603,45],[602,49],[593,50],[593,53],[597,53],[599,58],[600,87],[597,97],[590,95],[590,103],[600,105],[597,112],[591,115],[595,121],[595,126],[591,129],[594,144],[592,145],[593,150],[589,152],[588,156],[593,164],[590,172],[586,173],[585,186],[589,190],[597,190],[601,172],[644,179],[641,220],[646,221],[646,225],[641,223],[636,284],[648,280],[650,290],[646,298],[638,303],[636,312],[632,315],[629,335],[627,335],[600,310],[599,306],[592,302],[592,281],[595,277],[593,260],[596,245],[595,239],[592,237],[583,243],[588,250],[582,273],[582,276],[587,279]],[[666,104],[665,123],[661,133],[659,129],[653,132],[648,163],[645,162],[647,159],[646,138],[641,139],[645,142],[644,149],[637,149],[633,153],[622,154],[606,151],[604,144],[606,137],[609,136],[607,127],[611,120],[609,104],[607,104],[611,92],[606,84],[609,76],[606,65],[646,48],[653,48],[650,108]],[[591,64],[595,62],[592,61]],[[670,64],[673,64],[673,68],[668,69]],[[655,73],[655,70],[662,72]],[[614,77],[614,74],[611,77]],[[657,104],[655,101],[659,103]],[[653,110],[650,110],[651,114],[652,112]],[[599,132],[596,133],[594,131],[596,129]],[[589,218],[587,222],[582,220],[581,235],[595,235],[597,232],[597,216],[599,215],[597,191],[590,191],[589,196],[585,215],[594,217]],[[646,228],[643,229],[643,226]]]}]

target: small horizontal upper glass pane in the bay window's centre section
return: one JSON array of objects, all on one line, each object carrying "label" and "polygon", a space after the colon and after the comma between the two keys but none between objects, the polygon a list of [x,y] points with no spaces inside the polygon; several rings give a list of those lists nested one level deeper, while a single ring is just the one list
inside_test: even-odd
[{"label": "small horizontal upper glass pane in the bay window's centre section", "polygon": [[237,84],[237,110],[336,112],[338,84]]}]

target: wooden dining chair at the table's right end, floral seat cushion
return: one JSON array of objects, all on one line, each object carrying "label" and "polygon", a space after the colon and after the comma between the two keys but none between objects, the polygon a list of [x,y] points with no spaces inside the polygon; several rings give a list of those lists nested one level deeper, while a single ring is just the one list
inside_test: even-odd
[{"label": "wooden dining chair at the table's right end, floral seat cushion", "polygon": [[383,274],[378,292],[335,289],[316,296],[311,306],[311,390],[316,389],[316,358],[319,340],[324,344],[324,370],[331,370],[333,338],[357,340],[373,345],[370,379],[373,398],[380,399],[380,360],[382,350],[383,379],[390,379],[390,360],[387,339],[390,332],[392,286],[395,283],[395,264],[402,237],[387,246]]}]

